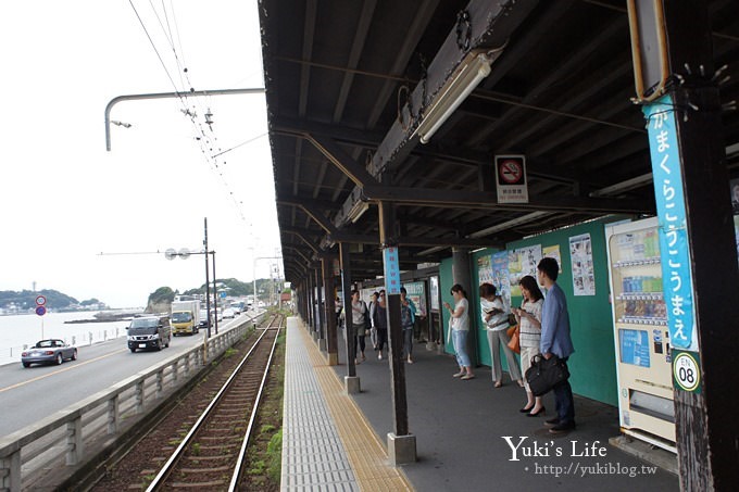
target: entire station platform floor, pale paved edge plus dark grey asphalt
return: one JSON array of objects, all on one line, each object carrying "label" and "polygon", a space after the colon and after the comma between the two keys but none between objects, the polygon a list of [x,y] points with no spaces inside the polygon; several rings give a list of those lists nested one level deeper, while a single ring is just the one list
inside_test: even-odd
[{"label": "entire station platform floor, pale paved edge plus dark grey asphalt", "polygon": [[392,431],[387,357],[377,359],[367,343],[366,361],[356,366],[362,391],[348,395],[342,345],[340,364],[328,366],[302,320],[288,319],[285,491],[679,490],[677,476],[667,471],[674,455],[647,449],[646,461],[610,442],[619,436],[617,408],[576,395],[577,429],[550,434],[543,422],[554,415],[551,394],[544,396],[543,418],[527,417],[518,412],[526,396],[515,382],[506,379],[494,389],[485,366],[475,379],[452,378],[453,357],[425,343],[414,345],[414,364],[405,364],[417,461],[393,467],[386,452]]}]

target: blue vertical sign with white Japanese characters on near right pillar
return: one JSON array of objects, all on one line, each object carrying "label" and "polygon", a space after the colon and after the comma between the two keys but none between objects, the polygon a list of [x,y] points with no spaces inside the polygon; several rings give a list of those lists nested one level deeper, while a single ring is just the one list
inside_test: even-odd
[{"label": "blue vertical sign with white Japanese characters on near right pillar", "polygon": [[654,197],[660,224],[662,277],[669,339],[674,348],[697,352],[692,275],[675,103],[667,94],[653,104],[646,105],[643,111],[648,122]]}]

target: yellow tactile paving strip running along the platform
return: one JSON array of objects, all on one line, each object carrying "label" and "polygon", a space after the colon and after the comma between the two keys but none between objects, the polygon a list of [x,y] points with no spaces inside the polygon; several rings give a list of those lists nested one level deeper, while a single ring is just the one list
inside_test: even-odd
[{"label": "yellow tactile paving strip running along the platform", "polygon": [[360,489],[363,491],[414,490],[403,472],[389,465],[385,446],[367,424],[362,411],[346,393],[343,382],[326,363],[315,342],[303,329],[303,325],[295,326],[299,329],[288,332],[288,336],[296,335],[295,332],[298,331],[303,338],[311,365],[315,370],[324,400],[336,424]]}]

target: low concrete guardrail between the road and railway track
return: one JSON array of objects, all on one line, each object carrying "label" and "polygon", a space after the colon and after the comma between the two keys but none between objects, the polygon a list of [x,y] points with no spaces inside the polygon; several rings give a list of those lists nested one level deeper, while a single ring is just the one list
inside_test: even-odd
[{"label": "low concrete guardrail between the road and railway track", "polygon": [[21,492],[64,468],[72,476],[100,451],[140,421],[201,367],[241,338],[266,313],[245,319],[188,352],[172,356],[0,439],[0,491]]}]

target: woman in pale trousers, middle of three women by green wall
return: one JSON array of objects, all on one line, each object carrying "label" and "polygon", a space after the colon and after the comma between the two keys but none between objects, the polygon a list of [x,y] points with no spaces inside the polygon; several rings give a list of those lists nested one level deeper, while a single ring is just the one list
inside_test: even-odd
[{"label": "woman in pale trousers, middle of three women by green wall", "polygon": [[513,354],[513,351],[508,346],[511,339],[506,330],[511,326],[509,324],[508,310],[503,306],[503,300],[497,295],[496,286],[492,283],[483,283],[480,286],[480,312],[483,323],[487,328],[488,346],[490,346],[490,367],[492,368],[492,382],[496,388],[503,386],[503,367],[500,363],[500,346],[503,346],[505,359],[509,365],[509,374],[511,379],[518,382],[519,387],[524,387],[524,380],[521,378],[521,370],[518,368],[518,361]]}]

